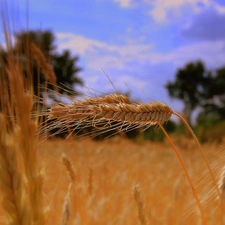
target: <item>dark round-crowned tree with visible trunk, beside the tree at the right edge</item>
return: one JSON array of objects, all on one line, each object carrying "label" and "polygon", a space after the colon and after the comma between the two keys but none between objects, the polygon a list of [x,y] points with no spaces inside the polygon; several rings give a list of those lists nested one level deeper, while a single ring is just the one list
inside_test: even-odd
[{"label": "dark round-crowned tree with visible trunk, beside the tree at the right edge", "polygon": [[183,101],[183,113],[190,123],[191,114],[200,105],[206,86],[210,84],[211,74],[205,71],[201,61],[188,63],[177,71],[175,81],[168,82],[166,88],[170,97]]}]

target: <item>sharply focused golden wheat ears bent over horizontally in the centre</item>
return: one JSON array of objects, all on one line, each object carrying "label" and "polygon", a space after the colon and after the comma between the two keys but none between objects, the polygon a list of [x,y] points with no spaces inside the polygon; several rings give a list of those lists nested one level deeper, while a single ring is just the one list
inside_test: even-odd
[{"label": "sharply focused golden wheat ears bent over horizontally in the centre", "polygon": [[172,109],[161,102],[134,104],[123,95],[113,94],[88,98],[71,105],[58,104],[51,108],[48,118],[61,122],[92,119],[93,124],[96,124],[98,119],[103,119],[129,124],[155,125],[168,121],[172,113]]}]

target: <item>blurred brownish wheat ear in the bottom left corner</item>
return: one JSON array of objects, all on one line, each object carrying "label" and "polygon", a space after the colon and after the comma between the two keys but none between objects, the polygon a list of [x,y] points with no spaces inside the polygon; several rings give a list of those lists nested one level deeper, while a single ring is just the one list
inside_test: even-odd
[{"label": "blurred brownish wheat ear in the bottom left corner", "polygon": [[[5,116],[0,113],[0,187],[2,191],[2,206],[6,212],[7,224],[26,224],[25,189],[21,174],[18,172],[17,152],[7,133]],[[29,215],[27,215],[29,216]],[[28,219],[29,221],[29,219]]]}]

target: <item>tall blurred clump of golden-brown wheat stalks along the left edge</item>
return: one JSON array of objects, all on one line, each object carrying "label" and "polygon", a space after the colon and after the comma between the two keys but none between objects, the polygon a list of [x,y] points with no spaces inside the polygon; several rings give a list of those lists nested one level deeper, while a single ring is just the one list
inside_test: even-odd
[{"label": "tall blurred clump of golden-brown wheat stalks along the left edge", "polygon": [[36,149],[38,119],[31,116],[34,96],[32,60],[29,60],[30,50],[37,52],[38,48],[27,40],[24,49],[16,50],[25,52],[27,57],[18,59],[7,18],[3,12],[7,54],[0,59],[0,188],[4,222],[43,225],[46,214],[42,199],[43,172]]}]

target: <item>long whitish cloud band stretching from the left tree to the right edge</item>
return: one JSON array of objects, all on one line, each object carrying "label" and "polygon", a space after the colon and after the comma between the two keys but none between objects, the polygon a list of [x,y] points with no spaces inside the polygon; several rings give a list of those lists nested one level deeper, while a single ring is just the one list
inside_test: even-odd
[{"label": "long whitish cloud band stretching from the left tree to the right edge", "polygon": [[221,66],[225,58],[225,41],[202,41],[196,44],[181,46],[173,52],[155,52],[152,45],[127,43],[110,45],[109,43],[89,39],[71,33],[58,33],[61,49],[70,49],[85,59],[86,67],[96,71],[106,70],[138,70],[146,65],[171,63],[182,66],[185,62],[201,59],[207,65]]}]

